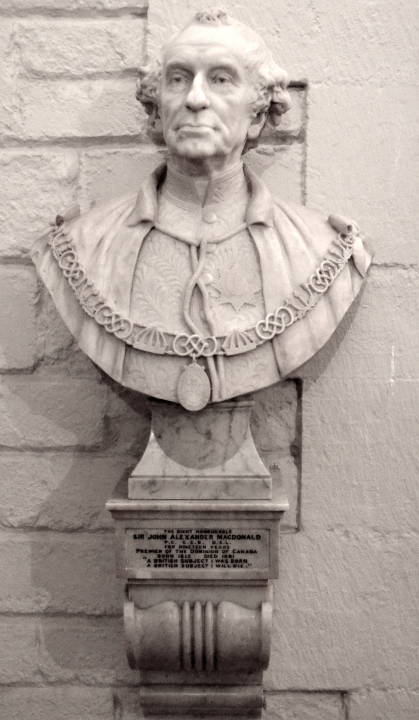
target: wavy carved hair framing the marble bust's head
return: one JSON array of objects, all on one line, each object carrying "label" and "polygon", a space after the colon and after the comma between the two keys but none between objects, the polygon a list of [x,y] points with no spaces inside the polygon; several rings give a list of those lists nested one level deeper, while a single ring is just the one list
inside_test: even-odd
[{"label": "wavy carved hair framing the marble bust's head", "polygon": [[[254,117],[266,114],[265,126],[277,126],[283,115],[291,107],[291,99],[287,91],[288,76],[275,62],[263,39],[254,30],[242,22],[235,20],[224,10],[213,8],[197,12],[191,21],[180,31],[191,25],[229,25],[236,28],[248,42],[246,50],[246,69],[253,79],[256,98],[253,105]],[[180,33],[175,33],[167,45]],[[166,46],[165,46],[166,47]],[[161,59],[154,59],[139,69],[137,83],[137,100],[143,105],[149,116],[149,134],[157,143],[164,143],[159,117],[158,96],[162,75]],[[257,144],[257,140],[246,142],[244,150]]]}]

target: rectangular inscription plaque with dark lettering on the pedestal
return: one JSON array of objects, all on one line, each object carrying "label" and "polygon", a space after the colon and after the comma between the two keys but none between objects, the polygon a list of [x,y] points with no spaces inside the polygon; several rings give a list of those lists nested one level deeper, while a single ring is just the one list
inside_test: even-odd
[{"label": "rectangular inscription plaque with dark lettering on the pedestal", "polygon": [[250,570],[268,565],[269,531],[248,528],[127,530],[129,564],[150,570]]}]

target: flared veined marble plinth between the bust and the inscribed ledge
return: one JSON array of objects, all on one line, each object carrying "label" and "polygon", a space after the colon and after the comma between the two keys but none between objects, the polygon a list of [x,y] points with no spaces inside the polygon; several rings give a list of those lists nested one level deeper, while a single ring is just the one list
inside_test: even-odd
[{"label": "flared veined marble plinth between the bust and the inscribed ledge", "polygon": [[268,500],[269,472],[249,428],[252,399],[188,412],[152,401],[147,449],[129,479],[132,499]]}]

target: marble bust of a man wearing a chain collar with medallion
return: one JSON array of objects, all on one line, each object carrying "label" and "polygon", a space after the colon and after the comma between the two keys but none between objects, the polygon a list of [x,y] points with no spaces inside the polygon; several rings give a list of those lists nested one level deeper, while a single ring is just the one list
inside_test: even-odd
[{"label": "marble bust of a man wearing a chain collar with medallion", "polygon": [[33,258],[97,365],[197,410],[308,360],[371,257],[356,226],[274,199],[243,162],[290,104],[286,74],[253,30],[200,12],[140,77],[167,163],[129,196],[58,216]]}]

